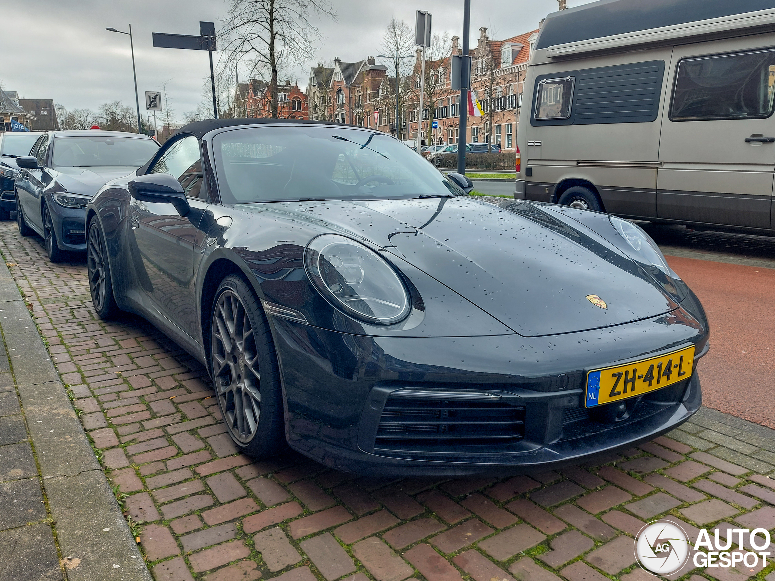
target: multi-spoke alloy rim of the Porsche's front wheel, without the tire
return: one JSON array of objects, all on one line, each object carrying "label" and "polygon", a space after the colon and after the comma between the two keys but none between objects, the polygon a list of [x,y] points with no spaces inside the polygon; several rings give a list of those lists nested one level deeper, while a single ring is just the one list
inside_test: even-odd
[{"label": "multi-spoke alloy rim of the Porsche's front wheel, without the tire", "polygon": [[259,425],[261,376],[255,330],[233,290],[223,290],[215,301],[211,337],[215,394],[223,419],[232,438],[246,445]]}]

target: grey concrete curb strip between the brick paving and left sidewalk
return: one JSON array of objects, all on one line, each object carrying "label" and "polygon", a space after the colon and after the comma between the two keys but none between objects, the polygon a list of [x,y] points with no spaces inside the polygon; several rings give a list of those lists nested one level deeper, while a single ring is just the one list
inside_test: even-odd
[{"label": "grey concrete curb strip between the brick paving and left sidewalk", "polygon": [[5,310],[0,328],[61,556],[67,559],[67,579],[151,581],[129,524],[5,260],[0,261],[0,306]]}]

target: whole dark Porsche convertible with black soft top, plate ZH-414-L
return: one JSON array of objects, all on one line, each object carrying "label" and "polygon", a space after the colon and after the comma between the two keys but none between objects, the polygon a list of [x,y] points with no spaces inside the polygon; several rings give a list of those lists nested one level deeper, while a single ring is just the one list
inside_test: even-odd
[{"label": "whole dark Porsche convertible with black soft top, plate ZH-414-L", "polygon": [[254,458],[530,472],[698,410],[708,322],[648,235],[467,185],[370,129],[195,122],[88,205],[91,297],[202,361]]}]

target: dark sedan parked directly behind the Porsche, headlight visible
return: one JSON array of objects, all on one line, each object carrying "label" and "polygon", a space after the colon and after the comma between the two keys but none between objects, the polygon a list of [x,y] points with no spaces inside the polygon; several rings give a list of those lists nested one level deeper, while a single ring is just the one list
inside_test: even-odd
[{"label": "dark sedan parked directly behind the Porsche, headlight visible", "polygon": [[106,181],[146,163],[159,145],[148,136],[119,131],[52,131],[29,156],[16,158],[16,220],[22,235],[38,234],[53,262],[86,249],[86,205]]}]

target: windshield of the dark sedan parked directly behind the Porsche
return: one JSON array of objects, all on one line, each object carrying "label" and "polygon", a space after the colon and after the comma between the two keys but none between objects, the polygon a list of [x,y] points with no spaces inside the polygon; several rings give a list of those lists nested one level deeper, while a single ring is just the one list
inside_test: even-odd
[{"label": "windshield of the dark sedan parked directly behind the Porsche", "polygon": [[140,167],[159,147],[142,137],[57,137],[52,167]]}]

